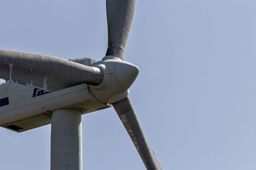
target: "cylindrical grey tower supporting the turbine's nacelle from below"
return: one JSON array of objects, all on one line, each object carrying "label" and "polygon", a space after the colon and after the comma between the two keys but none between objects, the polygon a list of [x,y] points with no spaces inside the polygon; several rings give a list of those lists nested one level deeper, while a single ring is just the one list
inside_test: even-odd
[{"label": "cylindrical grey tower supporting the turbine's nacelle from below", "polygon": [[81,111],[52,112],[51,170],[82,170],[83,142]]}]

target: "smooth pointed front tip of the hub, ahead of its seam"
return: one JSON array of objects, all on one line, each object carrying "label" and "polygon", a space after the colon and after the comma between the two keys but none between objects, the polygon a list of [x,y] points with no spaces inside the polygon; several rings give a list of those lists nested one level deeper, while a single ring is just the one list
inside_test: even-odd
[{"label": "smooth pointed front tip of the hub, ahead of its seam", "polygon": [[115,64],[116,80],[125,90],[131,87],[138,74],[139,68],[134,64],[122,60],[116,62]]}]

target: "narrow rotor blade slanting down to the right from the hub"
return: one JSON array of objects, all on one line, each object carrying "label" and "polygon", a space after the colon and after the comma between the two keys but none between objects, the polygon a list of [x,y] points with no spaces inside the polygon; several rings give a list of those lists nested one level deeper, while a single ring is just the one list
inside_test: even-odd
[{"label": "narrow rotor blade slanting down to the right from the hub", "polygon": [[158,163],[154,152],[148,145],[147,139],[143,133],[140,122],[134,111],[134,108],[132,107],[129,97],[114,103],[113,106],[122,123],[124,124],[124,127],[132,139],[136,149],[140,153],[140,157],[147,169],[160,170],[161,166]]}]

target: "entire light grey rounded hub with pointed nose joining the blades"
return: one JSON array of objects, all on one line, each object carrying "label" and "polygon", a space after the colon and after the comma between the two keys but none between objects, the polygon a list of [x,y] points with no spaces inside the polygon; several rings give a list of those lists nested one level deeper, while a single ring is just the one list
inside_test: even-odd
[{"label": "entire light grey rounded hub with pointed nose joining the blades", "polygon": [[136,79],[139,68],[115,56],[106,56],[103,60],[92,64],[104,73],[100,85],[89,85],[93,96],[101,103],[116,103],[129,94],[129,87]]}]

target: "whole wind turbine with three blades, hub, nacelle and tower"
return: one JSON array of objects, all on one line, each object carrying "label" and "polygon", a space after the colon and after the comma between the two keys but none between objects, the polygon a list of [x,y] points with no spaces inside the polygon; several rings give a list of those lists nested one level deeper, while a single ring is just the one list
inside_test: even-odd
[{"label": "whole wind turbine with three blades, hub, nacelle and tower", "polygon": [[0,50],[0,125],[16,132],[51,126],[51,169],[83,169],[81,115],[113,106],[147,169],[161,169],[128,97],[139,69],[124,49],[135,0],[107,0],[106,57],[64,60]]}]

